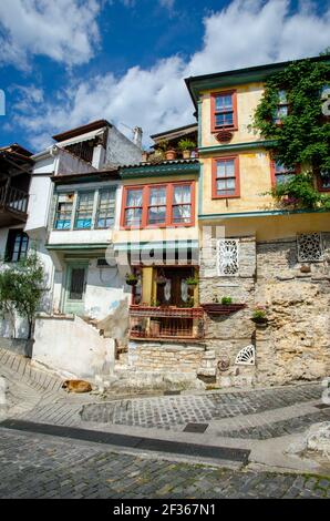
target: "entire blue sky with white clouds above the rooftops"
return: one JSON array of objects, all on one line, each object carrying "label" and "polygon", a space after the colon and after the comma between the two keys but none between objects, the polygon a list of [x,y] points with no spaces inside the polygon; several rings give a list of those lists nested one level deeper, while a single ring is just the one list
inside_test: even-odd
[{"label": "entire blue sky with white clouds above the rooftops", "polygon": [[147,147],[195,121],[184,78],[329,45],[330,0],[0,0],[0,146],[106,119]]}]

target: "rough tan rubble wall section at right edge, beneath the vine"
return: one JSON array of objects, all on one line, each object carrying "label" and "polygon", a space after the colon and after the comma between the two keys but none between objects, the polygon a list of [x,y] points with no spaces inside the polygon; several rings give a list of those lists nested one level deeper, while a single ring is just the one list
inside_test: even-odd
[{"label": "rough tan rubble wall section at right edge, beneath the vine", "polygon": [[256,335],[259,382],[330,375],[330,234],[322,237],[323,260],[317,263],[297,260],[295,238],[257,247],[256,300],[269,316]]}]

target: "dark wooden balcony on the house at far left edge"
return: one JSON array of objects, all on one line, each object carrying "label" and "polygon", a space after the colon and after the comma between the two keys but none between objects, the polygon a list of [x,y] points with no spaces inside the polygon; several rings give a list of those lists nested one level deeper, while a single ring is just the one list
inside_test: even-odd
[{"label": "dark wooden balcony on the house at far left edge", "polygon": [[0,187],[0,226],[10,226],[24,223],[27,221],[27,211],[29,194],[13,186]]}]

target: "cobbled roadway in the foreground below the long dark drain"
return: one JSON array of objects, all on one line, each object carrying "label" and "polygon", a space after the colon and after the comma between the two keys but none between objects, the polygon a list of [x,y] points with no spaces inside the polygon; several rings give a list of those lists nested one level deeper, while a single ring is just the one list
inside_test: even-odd
[{"label": "cobbled roadway in the foreground below the long dark drain", "polygon": [[330,479],[115,453],[0,428],[0,498],[330,498]]}]

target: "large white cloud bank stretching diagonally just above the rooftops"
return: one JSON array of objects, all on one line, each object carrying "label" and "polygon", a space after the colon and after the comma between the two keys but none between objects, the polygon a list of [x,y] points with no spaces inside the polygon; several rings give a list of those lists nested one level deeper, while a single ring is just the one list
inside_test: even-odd
[{"label": "large white cloud bank stretching diagonally just above the rooftops", "polygon": [[329,44],[330,10],[318,16],[305,4],[290,14],[289,7],[289,0],[234,0],[205,18],[202,49],[188,60],[175,55],[148,70],[132,68],[118,79],[107,73],[71,81],[56,100],[30,102],[16,123],[27,130],[32,145],[40,146],[45,134],[93,119],[140,125],[145,137],[193,122],[184,78],[316,55]]}]

